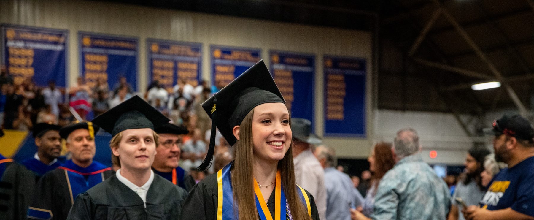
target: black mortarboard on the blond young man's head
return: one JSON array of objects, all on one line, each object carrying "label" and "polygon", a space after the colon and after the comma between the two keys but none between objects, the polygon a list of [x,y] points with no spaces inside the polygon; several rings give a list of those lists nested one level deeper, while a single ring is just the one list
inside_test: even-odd
[{"label": "black mortarboard on the blond young man's head", "polygon": [[154,130],[170,120],[139,96],[133,96],[92,120],[100,128],[115,136],[127,129]]}]

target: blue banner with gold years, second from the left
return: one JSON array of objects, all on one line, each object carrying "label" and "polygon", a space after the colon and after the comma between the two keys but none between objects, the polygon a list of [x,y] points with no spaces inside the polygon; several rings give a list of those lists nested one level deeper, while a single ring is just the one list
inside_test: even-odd
[{"label": "blue banner with gold years, second from the left", "polygon": [[137,38],[93,33],[78,33],[80,69],[85,82],[94,87],[99,78],[109,89],[121,76],[137,91]]}]

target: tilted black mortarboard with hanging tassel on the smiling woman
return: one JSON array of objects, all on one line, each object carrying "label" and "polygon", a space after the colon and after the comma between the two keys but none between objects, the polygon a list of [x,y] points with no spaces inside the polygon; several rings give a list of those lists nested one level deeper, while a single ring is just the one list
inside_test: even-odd
[{"label": "tilted black mortarboard with hanging tassel on the smiling woman", "polygon": [[212,123],[208,154],[200,164],[199,170],[206,170],[211,163],[216,142],[215,126],[226,141],[234,145],[237,139],[233,136],[233,127],[240,125],[254,107],[264,103],[286,103],[286,101],[263,60],[202,103],[206,113],[211,116]]}]

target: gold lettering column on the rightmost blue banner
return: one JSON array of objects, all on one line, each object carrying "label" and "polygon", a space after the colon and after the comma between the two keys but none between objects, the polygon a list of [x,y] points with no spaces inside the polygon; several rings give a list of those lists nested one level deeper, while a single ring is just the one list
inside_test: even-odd
[{"label": "gold lettering column on the rightmost blue banner", "polygon": [[326,119],[344,119],[345,76],[343,74],[326,75]]}]

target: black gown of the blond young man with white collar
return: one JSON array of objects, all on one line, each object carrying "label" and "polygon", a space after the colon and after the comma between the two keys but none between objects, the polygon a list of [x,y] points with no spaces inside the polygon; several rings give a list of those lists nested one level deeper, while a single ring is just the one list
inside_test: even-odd
[{"label": "black gown of the blond young man with white collar", "polygon": [[67,219],[179,219],[187,192],[159,175],[143,200],[112,176],[76,197]]}]

